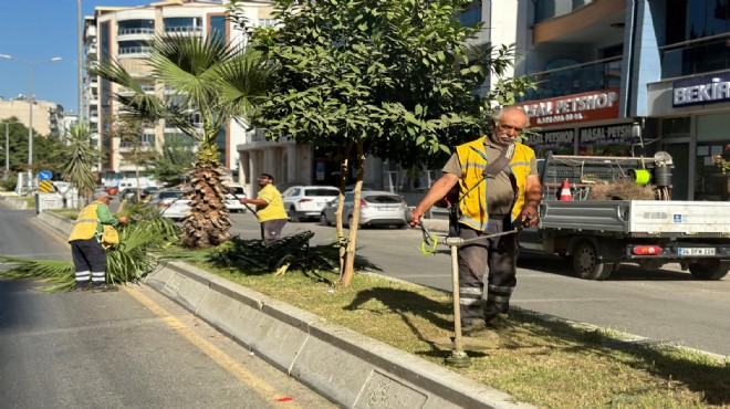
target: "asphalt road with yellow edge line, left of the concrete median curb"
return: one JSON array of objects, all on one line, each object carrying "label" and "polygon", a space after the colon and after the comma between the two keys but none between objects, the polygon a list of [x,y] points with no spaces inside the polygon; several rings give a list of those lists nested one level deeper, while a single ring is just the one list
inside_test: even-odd
[{"label": "asphalt road with yellow edge line, left of the concrete median curb", "polygon": [[[70,260],[64,239],[0,204],[0,254]],[[148,287],[38,286],[0,281],[3,408],[334,408]]]}]

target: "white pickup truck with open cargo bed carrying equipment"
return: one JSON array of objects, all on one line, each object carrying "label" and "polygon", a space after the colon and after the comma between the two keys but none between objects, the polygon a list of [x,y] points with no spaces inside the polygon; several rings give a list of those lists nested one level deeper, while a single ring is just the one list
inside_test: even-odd
[{"label": "white pickup truck with open cargo bed carrying equipment", "polygon": [[[520,232],[522,250],[569,258],[575,273],[588,280],[605,280],[622,263],[647,271],[679,263],[698,280],[728,273],[730,202],[669,200],[666,153],[654,158],[549,156],[540,168],[540,223]],[[591,189],[627,178],[655,197],[591,199]],[[560,199],[565,180],[572,200]]]}]

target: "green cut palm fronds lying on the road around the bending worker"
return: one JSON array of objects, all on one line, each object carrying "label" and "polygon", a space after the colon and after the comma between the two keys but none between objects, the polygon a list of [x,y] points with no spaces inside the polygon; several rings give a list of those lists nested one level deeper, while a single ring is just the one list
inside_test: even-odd
[{"label": "green cut palm fronds lying on the road around the bending worker", "polygon": [[[175,223],[154,209],[135,206],[125,209],[124,213],[128,214],[129,222],[117,227],[121,243],[106,252],[107,283],[136,282],[157,265],[157,260],[149,253],[164,250],[177,241]],[[0,260],[12,265],[8,271],[0,271],[0,279],[30,277],[54,284],[43,289],[49,292],[71,290],[75,285],[72,262],[9,255],[0,255]]]}]

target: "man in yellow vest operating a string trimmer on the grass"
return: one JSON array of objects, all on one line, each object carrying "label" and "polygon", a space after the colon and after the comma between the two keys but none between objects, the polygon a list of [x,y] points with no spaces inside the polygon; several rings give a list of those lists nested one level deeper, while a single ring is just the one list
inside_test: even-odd
[{"label": "man in yellow vest operating a string trimmer on the grass", "polygon": [[489,136],[457,146],[444,166],[444,175],[413,211],[415,226],[451,188],[458,190],[458,198],[449,203],[456,210],[449,235],[463,242],[458,249],[458,310],[460,326],[467,334],[483,328],[484,324],[499,327],[505,322],[517,285],[518,239],[517,234],[497,233],[519,224],[536,226],[542,198],[534,151],[517,141],[529,125],[525,112],[517,107],[499,109],[492,115],[492,125]]}]

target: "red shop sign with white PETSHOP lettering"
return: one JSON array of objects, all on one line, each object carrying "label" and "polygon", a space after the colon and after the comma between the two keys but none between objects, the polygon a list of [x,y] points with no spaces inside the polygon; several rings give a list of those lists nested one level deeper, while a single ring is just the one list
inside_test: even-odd
[{"label": "red shop sign with white PETSHOP lettering", "polygon": [[594,91],[517,104],[532,126],[553,126],[618,117],[618,90]]}]

